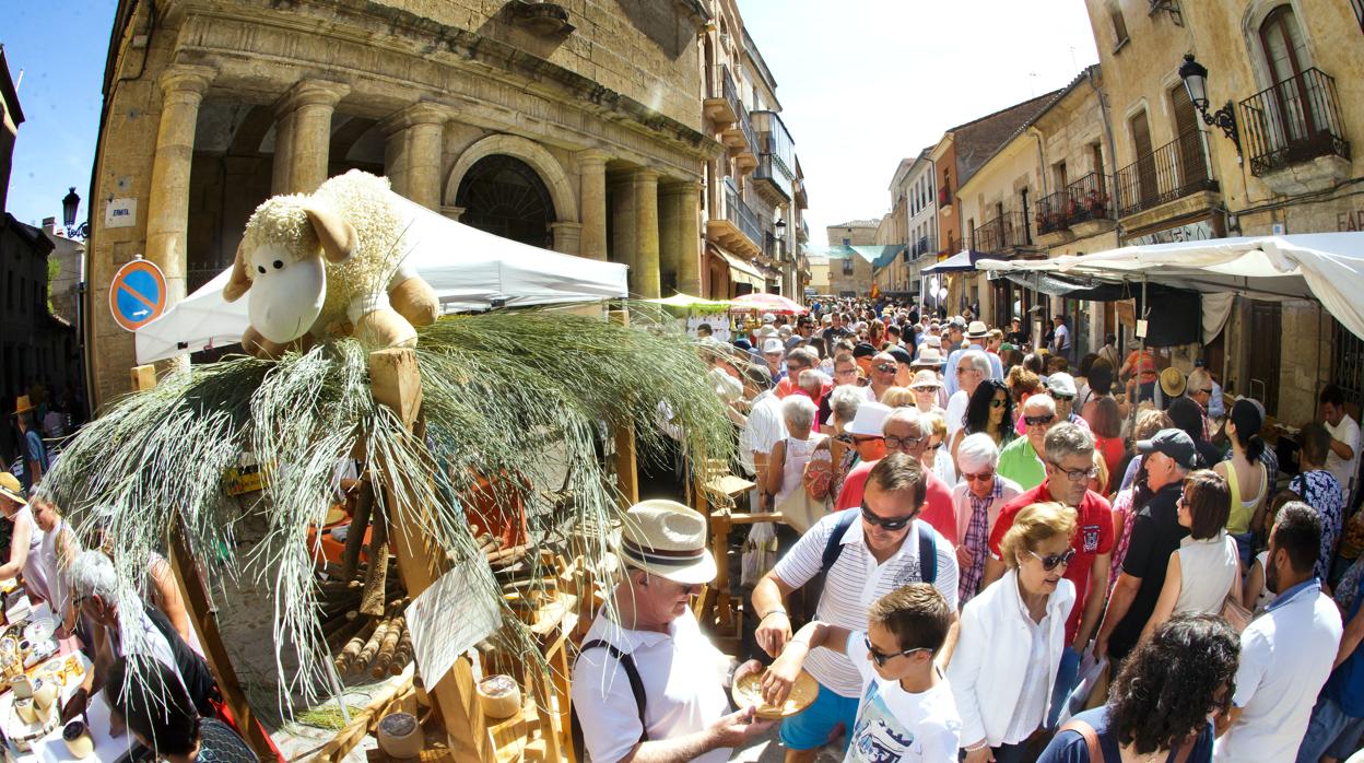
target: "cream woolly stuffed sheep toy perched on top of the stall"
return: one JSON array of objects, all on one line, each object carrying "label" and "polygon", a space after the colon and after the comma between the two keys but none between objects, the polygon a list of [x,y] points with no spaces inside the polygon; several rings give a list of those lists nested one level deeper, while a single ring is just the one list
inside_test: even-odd
[{"label": "cream woolly stuffed sheep toy perched on top of the stall", "polygon": [[251,292],[247,352],[353,334],[372,348],[411,347],[439,310],[430,284],[405,265],[409,244],[383,177],[352,169],[312,194],[266,199],[237,247],[228,302]]}]

